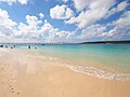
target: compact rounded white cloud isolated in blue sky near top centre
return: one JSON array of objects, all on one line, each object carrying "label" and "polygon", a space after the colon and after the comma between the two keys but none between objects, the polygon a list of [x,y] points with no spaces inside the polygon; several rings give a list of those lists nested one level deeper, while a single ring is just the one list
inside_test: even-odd
[{"label": "compact rounded white cloud isolated in blue sky near top centre", "polygon": [[56,19],[67,19],[74,15],[74,12],[66,5],[55,5],[50,10],[50,16]]}]

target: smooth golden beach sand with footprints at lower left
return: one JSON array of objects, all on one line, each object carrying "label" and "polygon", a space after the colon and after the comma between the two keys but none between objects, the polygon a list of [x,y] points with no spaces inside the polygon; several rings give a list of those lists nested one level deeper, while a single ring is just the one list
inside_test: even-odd
[{"label": "smooth golden beach sand with footprints at lower left", "polygon": [[99,79],[58,59],[0,48],[0,97],[130,97],[130,82]]}]

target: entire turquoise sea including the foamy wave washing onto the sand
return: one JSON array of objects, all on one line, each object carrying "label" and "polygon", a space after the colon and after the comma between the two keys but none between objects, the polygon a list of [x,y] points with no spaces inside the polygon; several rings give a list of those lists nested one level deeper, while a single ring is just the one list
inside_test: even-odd
[{"label": "entire turquoise sea including the foamy wave washing onto the sand", "polygon": [[[26,51],[27,46],[16,45],[16,48]],[[108,80],[130,81],[130,44],[34,44],[29,51],[56,57],[67,64],[68,68],[78,72]]]}]

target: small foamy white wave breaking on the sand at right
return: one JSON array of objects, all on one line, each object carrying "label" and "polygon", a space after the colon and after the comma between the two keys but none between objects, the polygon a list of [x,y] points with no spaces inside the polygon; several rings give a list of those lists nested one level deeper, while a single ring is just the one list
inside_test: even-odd
[{"label": "small foamy white wave breaking on the sand at right", "polygon": [[107,72],[95,67],[84,67],[84,66],[73,66],[73,65],[64,65],[65,67],[72,69],[76,72],[86,73],[89,75],[107,79],[107,80],[121,80],[121,81],[130,81],[130,73],[113,73]]}]

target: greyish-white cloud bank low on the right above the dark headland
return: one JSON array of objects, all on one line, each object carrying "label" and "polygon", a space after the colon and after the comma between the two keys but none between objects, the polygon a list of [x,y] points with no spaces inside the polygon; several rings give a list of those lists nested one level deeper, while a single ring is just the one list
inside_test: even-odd
[{"label": "greyish-white cloud bank low on the right above the dark headland", "polygon": [[[114,40],[123,39],[130,36],[130,11],[125,12],[118,19],[108,23],[107,25],[93,24],[81,30],[77,39],[102,39]],[[109,30],[107,29],[109,28]]]}]

